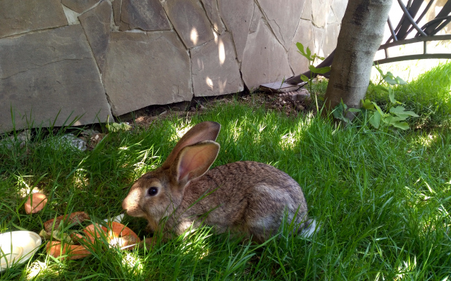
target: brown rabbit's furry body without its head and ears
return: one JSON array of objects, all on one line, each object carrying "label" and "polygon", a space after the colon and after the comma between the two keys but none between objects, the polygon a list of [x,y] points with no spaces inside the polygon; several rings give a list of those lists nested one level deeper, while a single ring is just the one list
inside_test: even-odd
[{"label": "brown rabbit's furry body without its head and ears", "polygon": [[172,226],[178,234],[204,223],[219,233],[231,230],[264,242],[284,217],[289,222],[296,218],[299,231],[309,224],[299,184],[268,164],[243,161],[217,166],[190,182],[184,193]]}]

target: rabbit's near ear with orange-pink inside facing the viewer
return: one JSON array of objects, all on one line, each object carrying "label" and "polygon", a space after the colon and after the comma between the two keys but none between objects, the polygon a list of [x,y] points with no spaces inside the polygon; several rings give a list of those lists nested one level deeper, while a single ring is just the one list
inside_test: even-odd
[{"label": "rabbit's near ear with orange-pink inside facing the viewer", "polygon": [[218,156],[219,148],[214,141],[202,141],[183,148],[173,165],[180,186],[205,174]]}]

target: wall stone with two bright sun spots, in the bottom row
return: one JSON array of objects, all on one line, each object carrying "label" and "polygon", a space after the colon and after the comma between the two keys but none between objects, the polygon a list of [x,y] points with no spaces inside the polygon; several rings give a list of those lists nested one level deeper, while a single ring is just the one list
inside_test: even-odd
[{"label": "wall stone with two bright sun spots, in the bottom row", "polygon": [[229,32],[194,48],[191,51],[194,96],[217,96],[242,91],[244,86],[235,58]]}]

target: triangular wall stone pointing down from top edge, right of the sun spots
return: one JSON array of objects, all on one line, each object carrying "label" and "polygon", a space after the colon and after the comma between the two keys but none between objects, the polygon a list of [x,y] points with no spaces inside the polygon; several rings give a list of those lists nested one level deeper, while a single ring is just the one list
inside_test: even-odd
[{"label": "triangular wall stone pointing down from top edge, right of the sun spots", "polygon": [[241,62],[252,21],[252,13],[254,13],[254,1],[218,0],[218,7],[224,24],[232,33],[237,58]]}]

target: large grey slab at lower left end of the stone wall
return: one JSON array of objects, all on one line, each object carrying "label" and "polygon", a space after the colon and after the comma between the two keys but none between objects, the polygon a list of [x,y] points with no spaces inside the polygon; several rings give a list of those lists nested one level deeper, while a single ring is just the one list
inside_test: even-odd
[{"label": "large grey slab at lower left end of the stone wall", "polygon": [[0,39],[0,131],[105,122],[111,115],[95,60],[80,25]]}]

